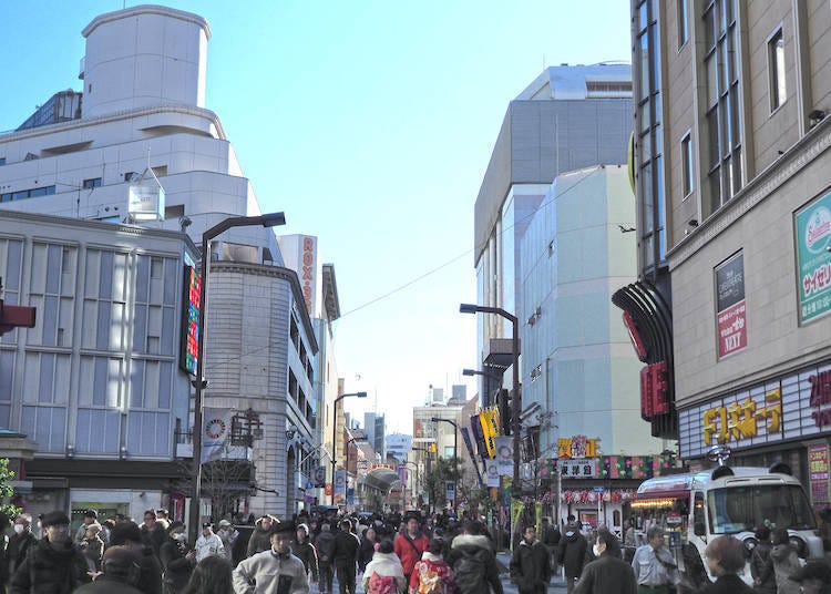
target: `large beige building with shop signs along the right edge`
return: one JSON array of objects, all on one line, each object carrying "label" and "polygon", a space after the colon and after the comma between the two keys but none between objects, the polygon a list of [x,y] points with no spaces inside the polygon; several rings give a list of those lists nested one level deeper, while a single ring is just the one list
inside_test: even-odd
[{"label": "large beige building with shop signs along the right edge", "polygon": [[640,280],[671,304],[680,455],[788,462],[825,506],[831,8],[645,0],[632,14]]}]

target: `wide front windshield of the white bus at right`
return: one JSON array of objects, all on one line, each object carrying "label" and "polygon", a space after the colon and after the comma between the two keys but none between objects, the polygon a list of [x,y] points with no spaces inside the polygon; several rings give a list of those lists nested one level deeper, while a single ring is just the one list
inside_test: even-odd
[{"label": "wide front windshield of the white bus at right", "polygon": [[815,528],[811,508],[797,484],[728,487],[707,493],[710,533],[735,534],[761,525],[771,530]]}]

